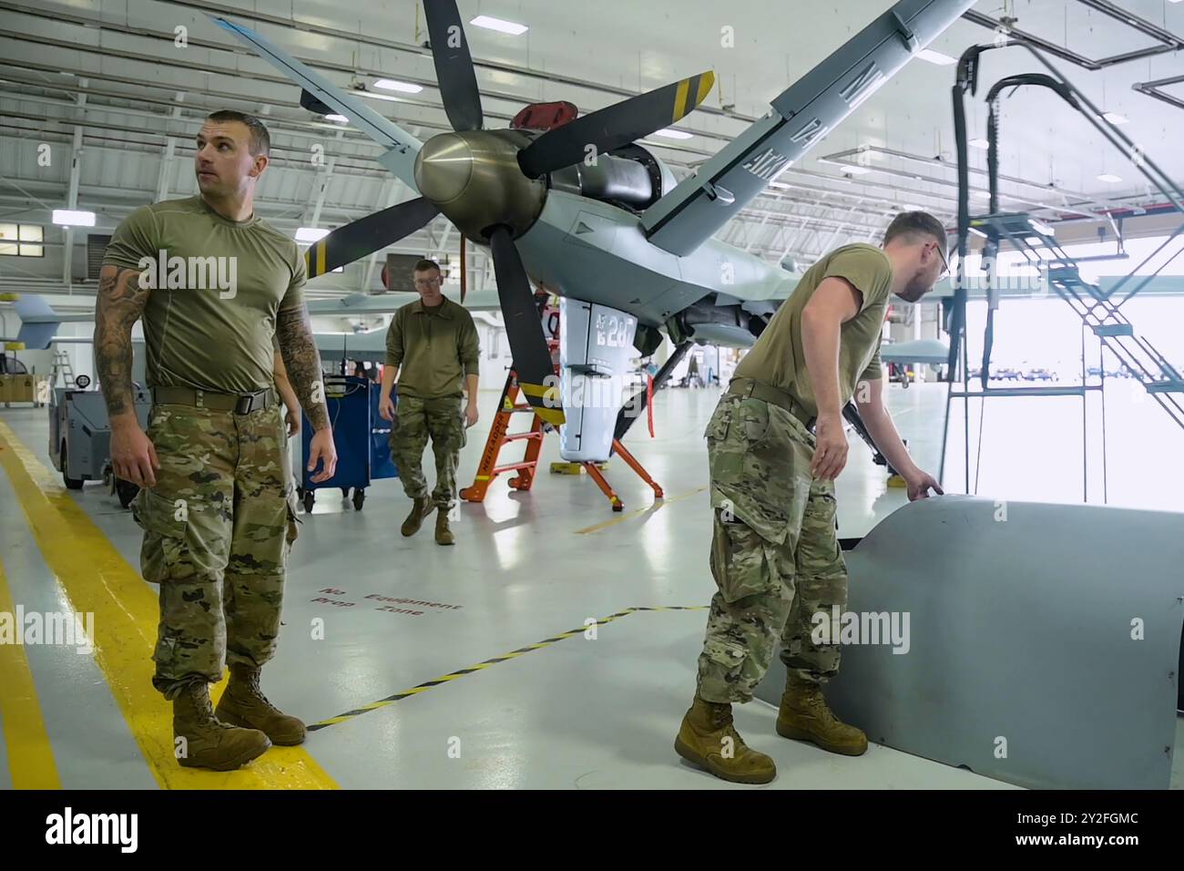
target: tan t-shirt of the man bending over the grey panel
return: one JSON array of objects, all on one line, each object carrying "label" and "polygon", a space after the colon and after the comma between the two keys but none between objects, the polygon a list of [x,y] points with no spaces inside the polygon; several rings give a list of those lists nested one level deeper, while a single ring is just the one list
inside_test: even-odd
[{"label": "tan t-shirt of the man bending over the grey panel", "polygon": [[847,278],[863,295],[858,314],[839,328],[838,389],[845,405],[861,380],[883,376],[880,335],[892,292],[892,263],[883,250],[863,243],[844,245],[815,263],[736,366],[736,378],[753,378],[792,393],[818,414],[802,350],[802,309],[824,278]]}]

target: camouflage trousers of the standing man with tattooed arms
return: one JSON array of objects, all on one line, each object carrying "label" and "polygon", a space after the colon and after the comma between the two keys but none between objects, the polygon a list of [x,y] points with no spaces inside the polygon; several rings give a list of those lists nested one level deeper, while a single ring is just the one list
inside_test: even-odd
[{"label": "camouflage trousers of the standing man with tattooed arms", "polygon": [[153,686],[166,699],[221,680],[226,661],[262,667],[276,652],[297,530],[282,409],[153,406],[160,469],[133,512],[141,571],[160,584]]}]

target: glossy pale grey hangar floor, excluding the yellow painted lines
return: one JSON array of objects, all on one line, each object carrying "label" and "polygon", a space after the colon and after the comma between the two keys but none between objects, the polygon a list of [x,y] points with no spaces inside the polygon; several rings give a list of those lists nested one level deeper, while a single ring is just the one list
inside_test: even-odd
[{"label": "glossy pale grey hangar floor, excluding the yellow painted lines", "polygon": [[[1108,398],[1109,500],[1184,511],[1184,463],[1177,460],[1184,433],[1131,386],[1115,384]],[[580,628],[588,619],[631,607],[704,606],[713,582],[701,436],[718,396],[718,390],[664,391],[655,409],[656,437],[639,422],[626,440],[665,489],[659,507],[617,460],[607,475],[625,502],[619,514],[586,476],[548,474],[547,465],[559,459],[556,437],[546,442],[530,493],[510,492],[503,476],[484,504],[462,506],[455,547],[437,546],[430,524],[414,538],[400,537],[410,502],[398,481],[375,482],[360,512],[340,491],[322,491],[292,555],[279,649],[264,672],[269,697],[316,723]],[[462,483],[472,480],[497,398],[497,391],[482,391],[482,420],[462,455]],[[893,386],[888,398],[914,455],[935,473],[944,388]],[[1101,501],[1100,416],[1098,409],[1092,414],[1090,493]],[[977,406],[971,417],[977,438]],[[44,409],[2,409],[0,420],[50,466]],[[979,493],[1081,500],[1080,401],[992,399],[983,421]],[[960,440],[954,427],[950,492],[964,492]],[[521,449],[510,446],[504,455],[516,457]],[[976,451],[972,444],[972,460]],[[883,469],[854,434],[837,489],[844,537],[864,534],[906,501],[902,489],[886,486]],[[114,497],[101,485],[73,497],[139,565],[139,527]],[[9,506],[0,512],[7,583],[26,609],[51,610],[59,596],[56,578],[22,512],[12,510],[15,499],[0,474],[0,504]],[[382,606],[422,614],[379,610]],[[575,635],[329,725],[311,734],[307,749],[345,788],[744,788],[686,766],[673,750],[694,691],[704,616],[703,610],[631,613],[599,626],[594,640]],[[324,621],[323,640],[309,630],[317,617]],[[152,787],[94,659],[51,647],[28,647],[27,655],[63,786]],[[79,707],[88,711],[85,725],[72,715]],[[776,710],[760,702],[736,711],[748,743],[778,763],[768,788],[1008,787],[876,745],[861,758],[831,756],[777,737],[774,718]],[[11,783],[5,758],[0,755],[0,787]],[[1177,754],[1175,788],[1182,786],[1180,768]]]}]

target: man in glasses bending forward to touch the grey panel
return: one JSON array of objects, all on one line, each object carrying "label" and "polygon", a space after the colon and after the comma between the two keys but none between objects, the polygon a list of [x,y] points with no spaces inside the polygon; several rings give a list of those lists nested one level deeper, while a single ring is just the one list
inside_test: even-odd
[{"label": "man in glasses bending forward to touch the grey panel", "polygon": [[[845,245],[819,260],[741,360],[707,425],[718,591],[675,749],[718,777],[767,783],[777,774],[772,758],[736,734],[732,704],[752,699],[778,641],[786,666],[778,734],[839,754],[867,750],[864,734],[839,722],[822,694],[838,672],[839,648],[815,638],[815,615],[830,620],[834,608],[847,608],[834,481],[847,457],[841,409],[866,384],[864,424],[893,467],[905,469],[909,498],[929,487],[940,493],[883,408],[880,334],[889,294],[919,300],[940,277],[945,248],[940,223],[907,212],[888,228],[882,250]],[[805,365],[806,324],[818,372]],[[826,365],[832,348],[835,364]]]}]

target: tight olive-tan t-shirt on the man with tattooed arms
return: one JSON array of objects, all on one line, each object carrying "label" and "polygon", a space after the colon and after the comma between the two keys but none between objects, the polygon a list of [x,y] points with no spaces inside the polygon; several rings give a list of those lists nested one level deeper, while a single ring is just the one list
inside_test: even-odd
[{"label": "tight olive-tan t-shirt on the man with tattooed arms", "polygon": [[154,283],[142,319],[149,386],[245,393],[274,385],[276,315],[304,306],[294,239],[188,197],[131,212],[103,264]]}]

